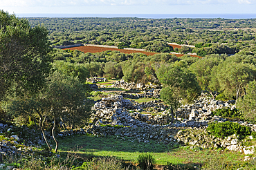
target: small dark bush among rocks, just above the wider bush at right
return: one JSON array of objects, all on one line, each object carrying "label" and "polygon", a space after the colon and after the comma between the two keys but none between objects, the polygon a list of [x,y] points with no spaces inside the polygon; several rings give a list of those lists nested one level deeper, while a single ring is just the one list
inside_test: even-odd
[{"label": "small dark bush among rocks, just above the wider bush at right", "polygon": [[230,109],[230,108],[219,108],[212,112],[213,115],[219,115],[221,117],[227,118],[239,118],[242,119],[242,114],[237,108]]}]

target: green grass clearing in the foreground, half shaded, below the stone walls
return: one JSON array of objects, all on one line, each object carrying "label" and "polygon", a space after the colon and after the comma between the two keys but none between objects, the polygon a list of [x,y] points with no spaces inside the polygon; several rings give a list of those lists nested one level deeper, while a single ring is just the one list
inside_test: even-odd
[{"label": "green grass clearing in the foreground, half shaded, below the stone walls", "polygon": [[136,162],[140,153],[151,153],[156,158],[156,164],[203,164],[205,160],[219,157],[230,162],[241,162],[244,158],[242,153],[222,150],[205,149],[201,151],[191,150],[189,147],[173,148],[168,144],[156,141],[149,143],[131,142],[128,138],[120,137],[97,137],[94,135],[75,135],[60,138],[60,152],[78,146],[81,155],[92,153],[95,156],[115,156],[127,162]]}]

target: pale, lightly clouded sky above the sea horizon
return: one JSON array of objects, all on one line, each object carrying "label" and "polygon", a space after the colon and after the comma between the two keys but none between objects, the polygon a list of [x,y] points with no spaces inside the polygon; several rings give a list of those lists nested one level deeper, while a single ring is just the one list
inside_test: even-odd
[{"label": "pale, lightly clouded sky above the sea horizon", "polygon": [[9,13],[255,14],[256,0],[0,0]]}]

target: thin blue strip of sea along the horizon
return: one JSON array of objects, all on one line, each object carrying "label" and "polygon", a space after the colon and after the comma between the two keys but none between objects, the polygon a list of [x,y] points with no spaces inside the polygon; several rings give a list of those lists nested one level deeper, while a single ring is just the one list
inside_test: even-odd
[{"label": "thin blue strip of sea along the horizon", "polygon": [[73,18],[73,17],[137,17],[147,19],[166,18],[224,18],[224,19],[255,19],[255,14],[17,14],[17,17],[51,17],[51,18]]}]

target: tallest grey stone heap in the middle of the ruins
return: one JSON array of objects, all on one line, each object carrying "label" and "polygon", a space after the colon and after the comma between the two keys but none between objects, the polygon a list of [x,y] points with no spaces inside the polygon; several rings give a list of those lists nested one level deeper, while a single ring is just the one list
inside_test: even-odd
[{"label": "tallest grey stone heap in the middle of the ruins", "polygon": [[[157,102],[149,102],[151,106],[154,103]],[[102,101],[95,103],[93,106],[95,114],[91,118],[96,125],[111,124],[135,127],[146,126],[147,124],[167,124],[170,122],[170,116],[166,112],[156,116],[139,112],[143,111],[142,107],[149,106],[149,104],[133,104],[130,100],[124,100],[122,95],[112,95],[111,97],[102,98]]]}]

